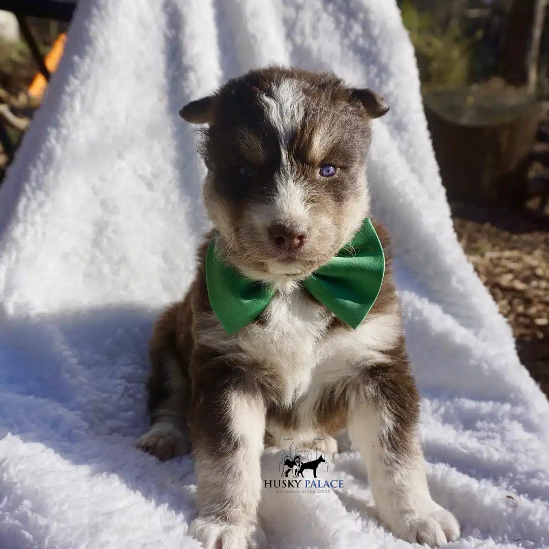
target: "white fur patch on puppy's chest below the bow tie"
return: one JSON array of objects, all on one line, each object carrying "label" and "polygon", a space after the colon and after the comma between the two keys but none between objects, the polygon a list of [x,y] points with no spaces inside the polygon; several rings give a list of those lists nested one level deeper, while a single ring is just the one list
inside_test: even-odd
[{"label": "white fur patch on puppy's chest below the bow tie", "polygon": [[284,387],[281,405],[300,399],[313,406],[322,388],[348,376],[357,361],[383,360],[383,350],[390,349],[400,333],[396,307],[368,316],[356,330],[327,330],[323,308],[294,291],[277,294],[264,326],[243,330],[239,343],[276,368]]}]

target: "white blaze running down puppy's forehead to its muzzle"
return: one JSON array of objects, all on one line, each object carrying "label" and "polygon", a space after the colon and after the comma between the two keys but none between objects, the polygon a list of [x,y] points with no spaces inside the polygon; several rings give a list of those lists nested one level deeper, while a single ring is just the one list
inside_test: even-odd
[{"label": "white blaze running down puppy's forehead to its muzzle", "polygon": [[268,223],[283,222],[306,229],[309,222],[306,187],[299,181],[288,159],[288,145],[292,135],[303,123],[305,96],[299,82],[284,79],[272,86],[270,96],[263,95],[268,120],[277,132],[281,148],[281,165],[276,173],[276,193],[273,203],[265,211]]}]

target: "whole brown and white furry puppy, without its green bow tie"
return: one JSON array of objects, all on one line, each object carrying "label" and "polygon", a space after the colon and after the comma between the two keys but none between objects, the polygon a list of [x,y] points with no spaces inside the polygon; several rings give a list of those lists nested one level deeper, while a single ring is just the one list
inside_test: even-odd
[{"label": "whole brown and white furry puppy, without its green bow tie", "polygon": [[[418,442],[419,399],[408,364],[388,234],[379,298],[351,329],[299,281],[341,249],[370,216],[366,156],[371,120],[389,110],[369,89],[333,74],[271,67],[230,80],[181,110],[206,124],[203,198],[217,250],[276,294],[228,335],[208,300],[205,251],[186,297],[156,323],[150,344],[152,427],[139,446],[161,460],[195,456],[206,549],[265,545],[257,519],[264,440],[303,445],[347,430],[360,450],[383,522],[432,547],[460,535],[433,501]],[[335,174],[321,175],[322,166]],[[190,438],[189,438],[190,437]]]}]

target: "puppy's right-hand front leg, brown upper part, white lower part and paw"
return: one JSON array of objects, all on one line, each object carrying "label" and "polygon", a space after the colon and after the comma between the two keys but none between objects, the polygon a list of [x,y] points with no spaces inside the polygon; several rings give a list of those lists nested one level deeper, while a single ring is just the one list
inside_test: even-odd
[{"label": "puppy's right-hand front leg, brown upper part, white lower part and paw", "polygon": [[362,367],[348,432],[382,521],[406,541],[438,547],[457,540],[460,525],[429,494],[417,436],[419,398],[404,356]]}]

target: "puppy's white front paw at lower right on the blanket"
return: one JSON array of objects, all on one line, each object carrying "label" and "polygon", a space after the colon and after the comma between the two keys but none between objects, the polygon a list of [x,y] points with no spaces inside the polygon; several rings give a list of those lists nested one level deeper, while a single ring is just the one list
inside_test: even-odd
[{"label": "puppy's white front paw at lower right on the blanket", "polygon": [[460,537],[460,523],[452,513],[433,502],[429,511],[403,511],[393,533],[411,543],[440,547]]}]

